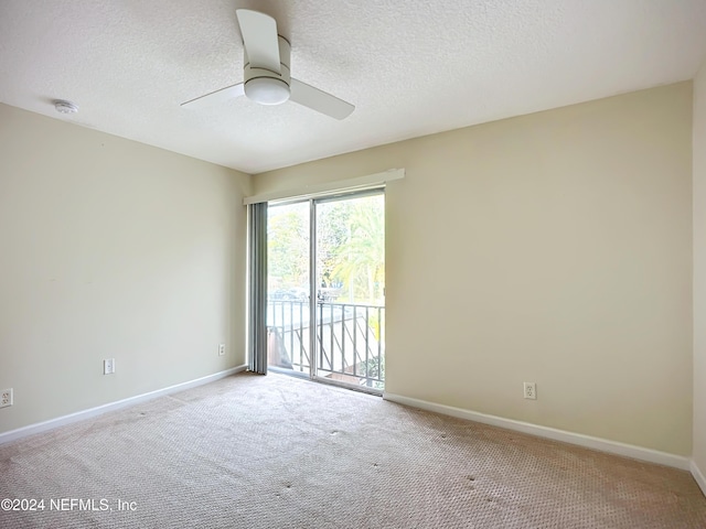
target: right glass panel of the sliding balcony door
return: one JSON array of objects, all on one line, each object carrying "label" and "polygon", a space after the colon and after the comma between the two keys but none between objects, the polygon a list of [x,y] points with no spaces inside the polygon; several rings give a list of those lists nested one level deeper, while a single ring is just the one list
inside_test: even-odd
[{"label": "right glass panel of the sliding balcony door", "polygon": [[315,207],[315,377],[385,385],[385,195]]}]

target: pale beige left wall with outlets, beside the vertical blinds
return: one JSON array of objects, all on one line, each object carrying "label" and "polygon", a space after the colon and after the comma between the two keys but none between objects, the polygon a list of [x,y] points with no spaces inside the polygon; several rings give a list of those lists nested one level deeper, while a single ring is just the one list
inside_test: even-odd
[{"label": "pale beige left wall with outlets, beside the vertical blinds", "polygon": [[0,389],[15,401],[0,432],[242,365],[249,192],[242,173],[0,105]]}]

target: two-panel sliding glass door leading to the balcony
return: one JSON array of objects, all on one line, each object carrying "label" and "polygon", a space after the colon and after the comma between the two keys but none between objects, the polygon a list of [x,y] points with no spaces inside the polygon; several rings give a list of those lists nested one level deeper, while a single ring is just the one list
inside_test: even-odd
[{"label": "two-panel sliding glass door leading to the balcony", "polygon": [[384,389],[384,208],[382,190],[270,204],[270,368]]}]

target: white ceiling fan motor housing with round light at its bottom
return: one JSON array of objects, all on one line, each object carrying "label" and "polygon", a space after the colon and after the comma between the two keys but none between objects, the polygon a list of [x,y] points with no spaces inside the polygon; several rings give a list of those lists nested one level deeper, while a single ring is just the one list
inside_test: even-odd
[{"label": "white ceiling fan motor housing with round light at its bottom", "polygon": [[279,73],[253,66],[247,57],[247,51],[244,52],[245,95],[261,105],[280,105],[287,101],[290,95],[291,45],[281,35],[277,35],[277,40],[279,43]]}]

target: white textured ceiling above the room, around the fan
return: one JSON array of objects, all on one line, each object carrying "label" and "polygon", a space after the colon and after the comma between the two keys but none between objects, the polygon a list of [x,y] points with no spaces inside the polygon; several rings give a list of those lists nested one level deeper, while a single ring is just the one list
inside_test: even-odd
[{"label": "white textured ceiling above the room, around the fan", "polygon": [[[243,79],[244,7],[355,111],[181,108]],[[706,0],[0,0],[0,101],[252,174],[688,79],[705,52]]]}]

